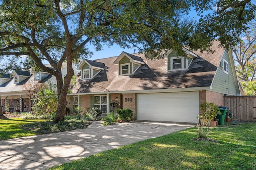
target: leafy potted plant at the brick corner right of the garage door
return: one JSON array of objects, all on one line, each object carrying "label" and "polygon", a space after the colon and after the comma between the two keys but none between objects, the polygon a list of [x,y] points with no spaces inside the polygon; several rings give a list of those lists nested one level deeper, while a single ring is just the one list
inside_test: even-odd
[{"label": "leafy potted plant at the brick corner right of the garage door", "polygon": [[198,118],[200,118],[201,125],[215,127],[217,121],[215,121],[214,118],[218,114],[220,114],[220,109],[218,105],[214,103],[205,102],[201,104],[200,107],[201,107],[201,110],[204,111],[202,115],[198,115]]}]

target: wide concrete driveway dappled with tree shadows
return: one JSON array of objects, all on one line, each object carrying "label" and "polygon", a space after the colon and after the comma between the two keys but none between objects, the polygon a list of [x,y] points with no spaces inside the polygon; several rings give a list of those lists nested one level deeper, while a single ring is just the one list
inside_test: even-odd
[{"label": "wide concrete driveway dappled with tree shadows", "polygon": [[104,150],[180,131],[194,125],[138,122],[0,141],[0,170],[45,170]]}]

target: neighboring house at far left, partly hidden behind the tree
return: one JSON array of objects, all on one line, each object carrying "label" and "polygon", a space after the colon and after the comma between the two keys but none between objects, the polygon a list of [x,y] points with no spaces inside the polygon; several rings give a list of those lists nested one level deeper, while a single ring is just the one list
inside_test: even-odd
[{"label": "neighboring house at far left, partly hidden behind the tree", "polygon": [[[50,66],[50,65],[46,65]],[[62,76],[66,75],[66,63],[62,65]],[[74,72],[78,73],[76,66],[73,65]],[[48,81],[56,84],[56,77],[48,72],[29,72],[29,71],[13,71],[11,75],[2,74],[0,76],[0,93],[2,110],[6,111],[7,104],[9,105],[10,112],[31,111],[30,97],[24,92],[23,85],[33,83],[48,83]]]}]

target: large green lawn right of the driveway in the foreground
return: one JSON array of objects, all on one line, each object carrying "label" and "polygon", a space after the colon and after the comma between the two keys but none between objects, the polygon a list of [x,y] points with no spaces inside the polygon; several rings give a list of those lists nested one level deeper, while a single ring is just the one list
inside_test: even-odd
[{"label": "large green lawn right of the driveway in the foreground", "polygon": [[253,170],[256,123],[211,128],[198,140],[197,128],[126,145],[50,170]]}]

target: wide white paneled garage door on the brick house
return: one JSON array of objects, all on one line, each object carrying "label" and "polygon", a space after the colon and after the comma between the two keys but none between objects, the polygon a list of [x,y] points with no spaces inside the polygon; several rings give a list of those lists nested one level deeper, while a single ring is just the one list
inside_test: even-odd
[{"label": "wide white paneled garage door on the brick house", "polygon": [[138,94],[137,112],[138,120],[196,123],[199,92]]}]

